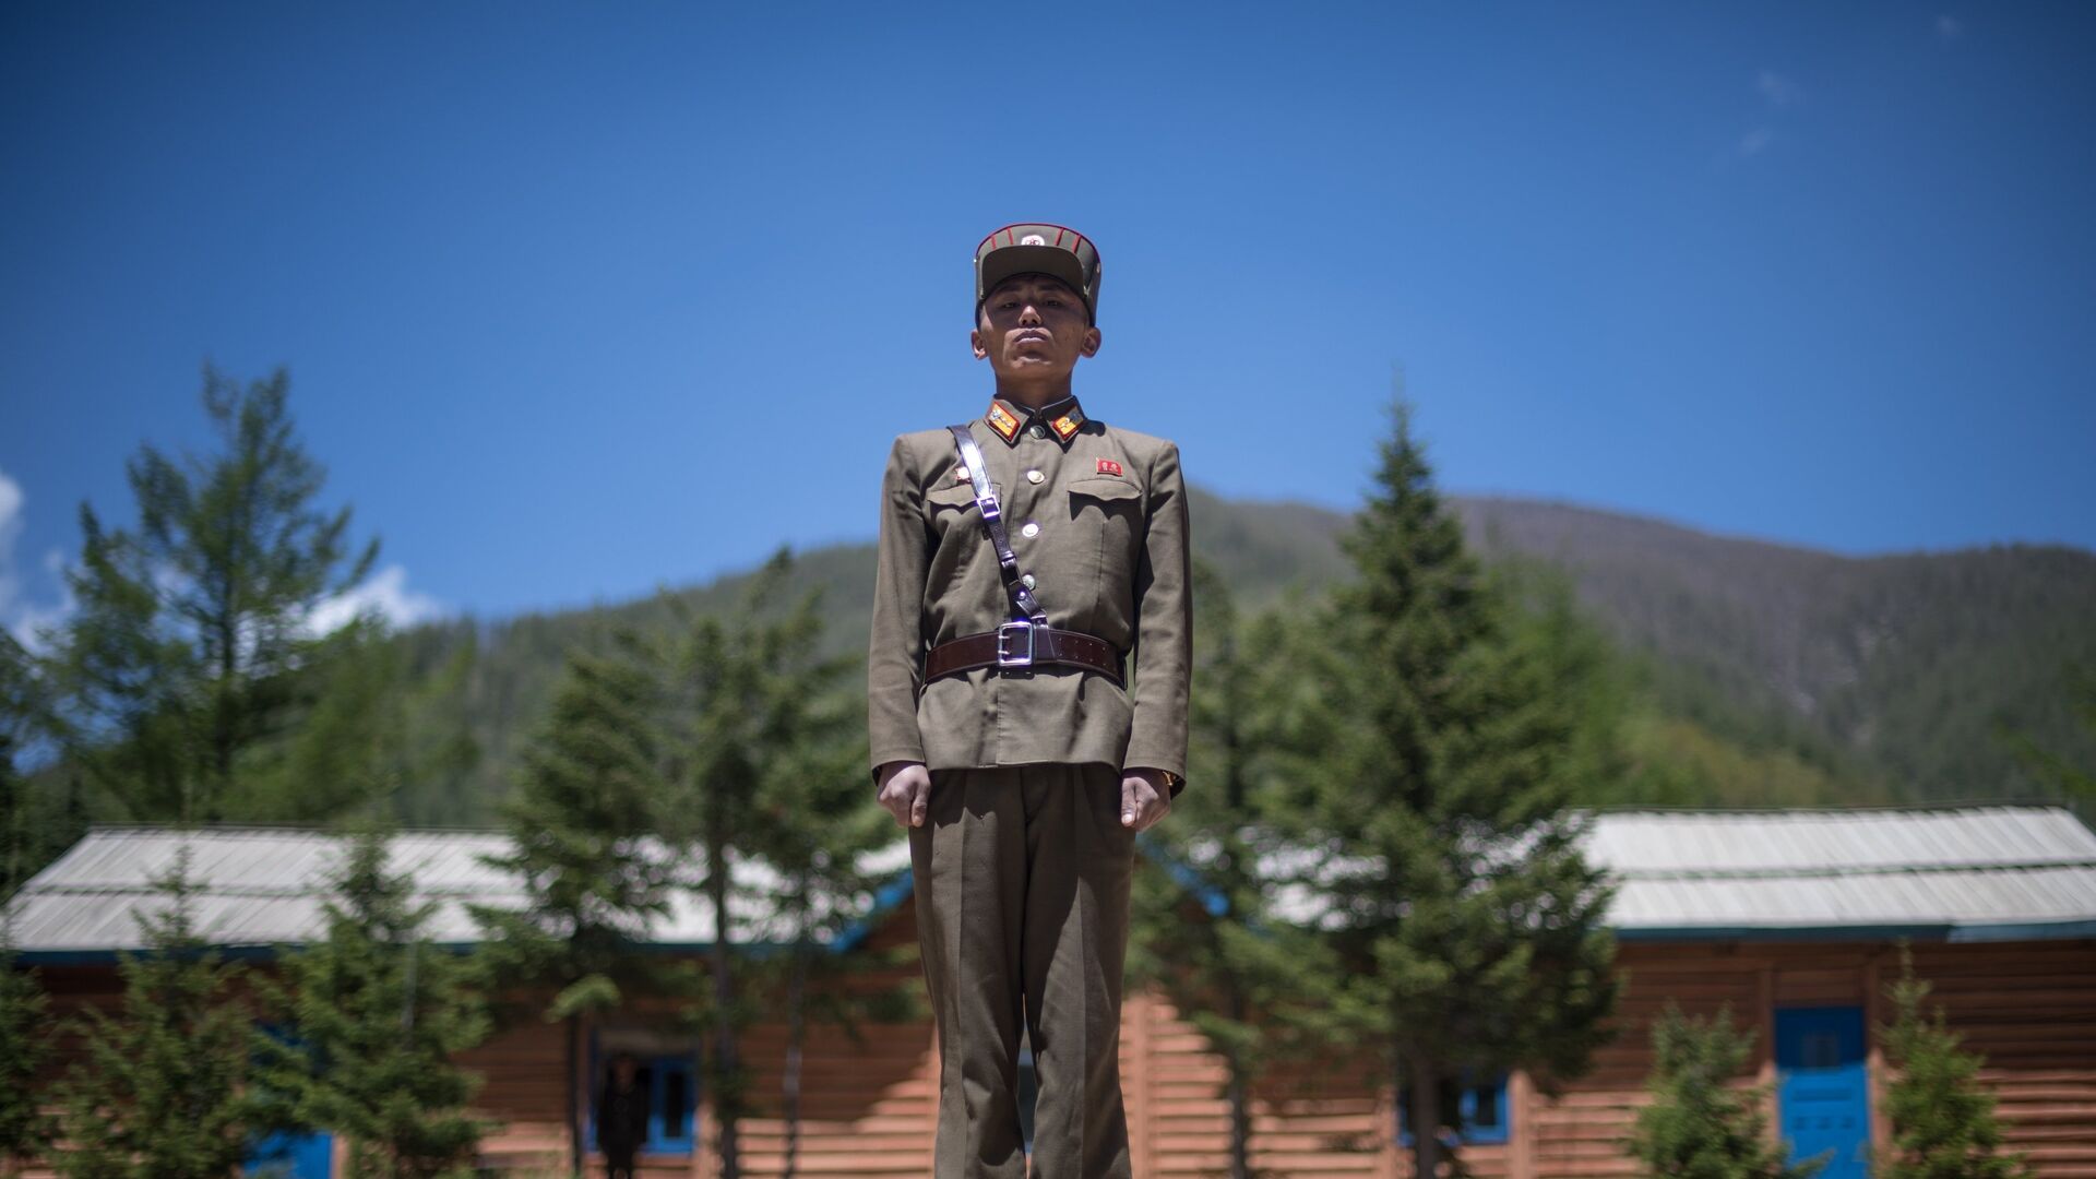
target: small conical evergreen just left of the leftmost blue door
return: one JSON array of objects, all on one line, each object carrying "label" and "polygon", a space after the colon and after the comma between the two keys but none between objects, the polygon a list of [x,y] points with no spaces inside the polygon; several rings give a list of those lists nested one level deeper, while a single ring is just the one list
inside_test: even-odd
[{"label": "small conical evergreen just left of the leftmost blue door", "polygon": [[61,1085],[54,1164],[71,1179],[226,1179],[247,1156],[258,1036],[233,999],[239,967],[195,931],[187,848],[159,885],[161,913],[138,921],[145,952],[117,965],[122,1007],[88,1011],[86,1057]]}]

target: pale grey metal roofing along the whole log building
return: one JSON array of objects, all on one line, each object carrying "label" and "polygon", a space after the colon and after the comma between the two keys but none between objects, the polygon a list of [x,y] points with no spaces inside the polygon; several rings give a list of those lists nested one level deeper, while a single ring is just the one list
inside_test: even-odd
[{"label": "pale grey metal roofing along the whole log building", "polygon": [[[191,850],[197,929],[220,946],[298,944],[321,927],[321,892],[344,839],[275,829],[96,829],[10,902],[17,946],[34,959],[140,944],[136,915],[163,902],[153,881]],[[480,862],[493,833],[394,837],[394,871],[436,902],[430,938],[474,942],[467,902],[522,906],[524,892]],[[1616,881],[1610,923],[1624,938],[2096,936],[2096,833],[2054,806],[1956,810],[1610,812],[1587,852]],[[908,845],[868,862],[901,873]],[[776,875],[736,864],[738,940],[776,934]],[[899,900],[891,889],[882,904]],[[1300,898],[1302,900],[1302,898]],[[713,919],[679,896],[658,944],[713,942]]]}]

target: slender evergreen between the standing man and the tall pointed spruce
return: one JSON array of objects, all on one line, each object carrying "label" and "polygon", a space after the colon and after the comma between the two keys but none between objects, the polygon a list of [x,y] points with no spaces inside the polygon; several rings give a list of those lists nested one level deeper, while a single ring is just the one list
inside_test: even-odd
[{"label": "slender evergreen between the standing man and the tall pointed spruce", "polygon": [[1274,831],[1276,726],[1293,642],[1281,615],[1239,619],[1228,583],[1195,562],[1199,650],[1188,757],[1195,789],[1147,839],[1167,871],[1138,875],[1134,978],[1159,984],[1222,1055],[1230,1179],[1251,1179],[1251,1087],[1268,1064],[1323,1045],[1316,1003],[1331,976],[1323,946],[1274,913],[1260,856]]}]

